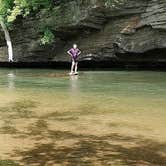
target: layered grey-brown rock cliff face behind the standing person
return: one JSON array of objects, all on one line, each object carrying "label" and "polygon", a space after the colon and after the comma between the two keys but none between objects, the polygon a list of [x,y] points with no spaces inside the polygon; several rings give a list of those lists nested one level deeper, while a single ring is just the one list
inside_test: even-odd
[{"label": "layered grey-brown rock cliff face behind the standing person", "polygon": [[[55,42],[43,46],[44,26]],[[73,43],[82,50],[80,61],[166,61],[166,1],[128,0],[116,8],[103,0],[71,0],[52,11],[18,19],[11,30],[16,62],[69,62]],[[0,31],[0,61],[7,60]]]}]

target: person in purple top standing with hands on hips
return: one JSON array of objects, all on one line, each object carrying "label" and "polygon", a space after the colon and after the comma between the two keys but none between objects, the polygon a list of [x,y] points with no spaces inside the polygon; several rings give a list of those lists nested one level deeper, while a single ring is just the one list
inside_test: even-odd
[{"label": "person in purple top standing with hands on hips", "polygon": [[67,53],[71,56],[72,65],[70,75],[78,74],[78,57],[81,54],[81,51],[77,48],[77,44],[73,44],[73,48],[71,48]]}]

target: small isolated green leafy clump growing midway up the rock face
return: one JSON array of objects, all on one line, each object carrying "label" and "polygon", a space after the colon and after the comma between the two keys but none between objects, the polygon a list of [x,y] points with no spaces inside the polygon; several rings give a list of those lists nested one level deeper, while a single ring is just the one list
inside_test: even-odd
[{"label": "small isolated green leafy clump growing midway up the rock face", "polygon": [[42,45],[50,44],[50,43],[54,42],[54,38],[55,38],[55,36],[54,36],[53,32],[47,27],[44,30],[43,37],[41,38],[41,44]]}]

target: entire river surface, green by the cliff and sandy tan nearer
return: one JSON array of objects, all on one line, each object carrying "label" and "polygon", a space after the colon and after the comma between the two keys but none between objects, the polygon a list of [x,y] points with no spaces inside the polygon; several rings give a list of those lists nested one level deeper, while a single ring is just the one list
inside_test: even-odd
[{"label": "entire river surface, green by the cliff and sandy tan nearer", "polygon": [[0,70],[2,159],[166,165],[165,72],[67,72]]}]

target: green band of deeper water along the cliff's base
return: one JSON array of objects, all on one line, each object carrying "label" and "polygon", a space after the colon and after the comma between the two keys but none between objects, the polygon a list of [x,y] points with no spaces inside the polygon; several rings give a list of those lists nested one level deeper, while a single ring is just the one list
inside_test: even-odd
[{"label": "green band of deeper water along the cliff's base", "polygon": [[0,79],[0,88],[13,93],[25,89],[51,89],[61,93],[75,90],[80,94],[142,95],[150,98],[166,95],[165,72],[87,71],[68,77],[67,71],[1,69]]}]

